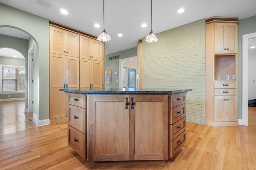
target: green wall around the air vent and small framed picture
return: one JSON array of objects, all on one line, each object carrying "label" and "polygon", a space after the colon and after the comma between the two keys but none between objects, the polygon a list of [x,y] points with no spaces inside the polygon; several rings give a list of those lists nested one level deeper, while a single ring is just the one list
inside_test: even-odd
[{"label": "green wall around the air vent and small framed picture", "polygon": [[[119,59],[137,56],[137,47],[105,55],[105,70],[111,70],[112,74],[111,84],[105,84],[105,88],[118,88],[119,86],[117,82],[119,76],[119,59],[108,60],[109,57],[116,55],[119,55]],[[115,72],[118,72],[118,75],[115,75]]]}]

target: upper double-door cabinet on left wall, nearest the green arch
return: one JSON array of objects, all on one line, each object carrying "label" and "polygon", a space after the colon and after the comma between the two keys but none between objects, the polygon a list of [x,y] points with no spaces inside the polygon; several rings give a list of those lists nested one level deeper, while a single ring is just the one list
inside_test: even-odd
[{"label": "upper double-door cabinet on left wall, nearest the green arch", "polygon": [[50,53],[79,57],[80,35],[50,26]]}]

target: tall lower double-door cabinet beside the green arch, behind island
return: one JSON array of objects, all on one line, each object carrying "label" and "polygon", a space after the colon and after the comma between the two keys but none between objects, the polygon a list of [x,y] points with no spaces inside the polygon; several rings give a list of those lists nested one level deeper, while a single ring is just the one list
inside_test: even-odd
[{"label": "tall lower double-door cabinet beside the green arch, behind island", "polygon": [[79,58],[50,53],[50,119],[67,116],[64,87],[79,89]]}]

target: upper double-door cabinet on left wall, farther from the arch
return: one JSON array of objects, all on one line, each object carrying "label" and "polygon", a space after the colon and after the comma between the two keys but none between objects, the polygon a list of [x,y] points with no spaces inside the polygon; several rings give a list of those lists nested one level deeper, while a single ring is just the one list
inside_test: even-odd
[{"label": "upper double-door cabinet on left wall, farther from the arch", "polygon": [[80,58],[102,61],[102,42],[80,36]]}]

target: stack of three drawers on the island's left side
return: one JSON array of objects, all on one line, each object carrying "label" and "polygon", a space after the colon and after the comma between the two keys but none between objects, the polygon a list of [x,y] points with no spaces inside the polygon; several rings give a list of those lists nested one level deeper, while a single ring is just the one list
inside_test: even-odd
[{"label": "stack of three drawers on the island's left side", "polygon": [[86,159],[86,95],[68,93],[68,145]]}]

